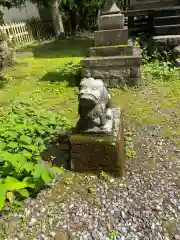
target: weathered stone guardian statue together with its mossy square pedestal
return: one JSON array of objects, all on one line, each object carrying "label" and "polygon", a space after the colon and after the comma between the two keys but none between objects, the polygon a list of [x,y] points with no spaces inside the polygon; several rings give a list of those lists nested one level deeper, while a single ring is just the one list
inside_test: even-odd
[{"label": "weathered stone guardian statue together with its mossy square pedestal", "polygon": [[110,172],[122,176],[124,131],[119,108],[100,79],[83,78],[79,89],[79,121],[70,137],[71,169]]}]

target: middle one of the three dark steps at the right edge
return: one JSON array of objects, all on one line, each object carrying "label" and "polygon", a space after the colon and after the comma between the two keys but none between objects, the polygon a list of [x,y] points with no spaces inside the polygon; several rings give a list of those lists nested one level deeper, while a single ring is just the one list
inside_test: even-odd
[{"label": "middle one of the three dark steps at the right edge", "polygon": [[180,15],[155,17],[154,24],[155,26],[180,24]]}]

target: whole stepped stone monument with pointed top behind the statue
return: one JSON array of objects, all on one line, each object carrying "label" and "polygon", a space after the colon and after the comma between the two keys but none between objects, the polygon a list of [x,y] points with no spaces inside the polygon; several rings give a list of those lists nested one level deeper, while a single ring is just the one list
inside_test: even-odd
[{"label": "whole stepped stone monument with pointed top behind the statue", "polygon": [[140,85],[141,51],[128,40],[124,15],[116,3],[108,12],[101,13],[98,27],[94,32],[95,47],[81,61],[82,76],[102,79],[108,87]]}]

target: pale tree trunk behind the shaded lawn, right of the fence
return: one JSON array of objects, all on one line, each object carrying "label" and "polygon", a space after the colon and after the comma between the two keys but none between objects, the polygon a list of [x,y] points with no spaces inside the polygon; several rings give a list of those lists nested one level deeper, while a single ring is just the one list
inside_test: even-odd
[{"label": "pale tree trunk behind the shaded lawn, right of the fence", "polygon": [[51,4],[51,13],[56,37],[64,38],[65,36],[64,26],[62,22],[62,16],[59,10],[60,3],[61,0],[53,1],[53,3]]}]

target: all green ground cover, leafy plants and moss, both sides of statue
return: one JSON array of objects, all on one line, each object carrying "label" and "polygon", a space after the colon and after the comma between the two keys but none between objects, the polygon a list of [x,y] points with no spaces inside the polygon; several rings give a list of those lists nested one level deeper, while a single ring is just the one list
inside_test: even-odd
[{"label": "all green ground cover, leafy plants and moss, both sides of statue", "polygon": [[[45,143],[77,120],[78,63],[91,40],[38,43],[17,52],[19,65],[6,69],[0,89],[0,209],[36,194],[62,169],[46,166]],[[164,137],[179,145],[179,70],[144,52],[143,87],[111,89],[124,110],[126,156],[134,158],[132,125],[163,126]],[[173,156],[170,156],[173,158]]]}]

